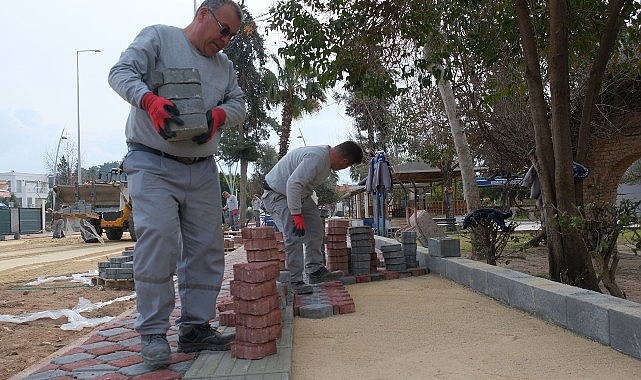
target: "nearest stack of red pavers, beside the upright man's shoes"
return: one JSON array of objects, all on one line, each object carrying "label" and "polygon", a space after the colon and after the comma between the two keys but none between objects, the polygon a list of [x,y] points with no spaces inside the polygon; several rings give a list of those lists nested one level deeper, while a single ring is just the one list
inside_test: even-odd
[{"label": "nearest stack of red pavers, beside the upright man's shoes", "polygon": [[282,336],[282,311],[276,279],[277,261],[256,261],[234,265],[230,293],[236,313],[236,340],[231,356],[257,360],[277,353]]}]

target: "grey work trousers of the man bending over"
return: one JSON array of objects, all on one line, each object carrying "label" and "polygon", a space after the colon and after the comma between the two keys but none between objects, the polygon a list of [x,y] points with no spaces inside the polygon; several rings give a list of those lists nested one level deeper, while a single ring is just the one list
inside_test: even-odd
[{"label": "grey work trousers of the man bending over", "polygon": [[291,281],[303,281],[303,270],[309,274],[323,266],[321,248],[325,226],[318,206],[311,197],[302,200],[305,236],[298,237],[293,233],[294,220],[287,207],[287,197],[275,191],[265,190],[262,199],[263,206],[271,214],[278,229],[283,232],[285,264],[291,274]]}]

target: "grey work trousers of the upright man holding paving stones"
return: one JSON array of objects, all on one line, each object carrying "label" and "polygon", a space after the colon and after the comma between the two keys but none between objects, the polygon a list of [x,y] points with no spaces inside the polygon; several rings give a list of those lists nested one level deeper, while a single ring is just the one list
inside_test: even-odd
[{"label": "grey work trousers of the upright man holding paving stones", "polygon": [[186,165],[132,151],[123,162],[138,241],[134,250],[136,307],[141,335],[164,334],[178,278],[181,328],[216,316],[225,270],[222,203],[214,158]]}]

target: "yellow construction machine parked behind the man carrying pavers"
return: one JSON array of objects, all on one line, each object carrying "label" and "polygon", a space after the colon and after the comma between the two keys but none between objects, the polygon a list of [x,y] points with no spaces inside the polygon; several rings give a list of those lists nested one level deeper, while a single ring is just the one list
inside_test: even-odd
[{"label": "yellow construction machine parked behind the man carrying pavers", "polygon": [[120,168],[113,168],[107,178],[91,180],[80,185],[57,185],[53,189],[62,207],[56,217],[79,219],[82,238],[87,243],[122,239],[125,231],[136,241],[132,202],[127,178]]}]

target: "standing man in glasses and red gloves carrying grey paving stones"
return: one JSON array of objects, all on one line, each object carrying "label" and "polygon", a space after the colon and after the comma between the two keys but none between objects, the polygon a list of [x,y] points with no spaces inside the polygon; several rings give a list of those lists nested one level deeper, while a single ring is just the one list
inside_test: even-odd
[{"label": "standing man in glasses and red gloves carrying grey paving stones", "polygon": [[[153,368],[171,362],[167,343],[174,310],[174,279],[181,308],[178,351],[229,350],[234,334],[209,321],[225,269],[222,204],[213,154],[220,130],[245,117],[244,94],[234,66],[221,50],[240,31],[242,12],[232,0],[206,0],[184,29],[144,28],[109,72],[109,84],[131,111],[125,127],[129,153],[123,168],[134,204],[138,241],[134,280],[141,356]],[[191,140],[168,141],[169,120],[179,110],[152,92],[150,75],[168,68],[198,70],[208,131]]]}]

